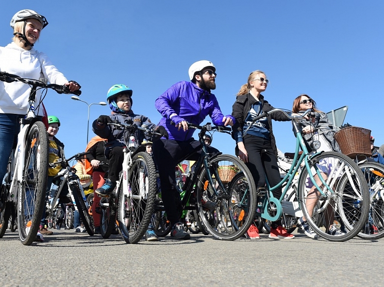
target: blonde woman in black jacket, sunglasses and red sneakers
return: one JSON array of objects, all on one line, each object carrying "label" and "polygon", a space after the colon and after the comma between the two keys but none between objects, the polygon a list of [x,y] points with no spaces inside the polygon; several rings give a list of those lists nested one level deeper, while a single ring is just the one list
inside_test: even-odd
[{"label": "blonde woman in black jacket, sunglasses and red sneakers", "polygon": [[[289,120],[283,113],[277,112],[253,122],[254,117],[273,109],[261,95],[267,85],[268,80],[264,72],[260,70],[251,72],[247,83],[242,85],[237,93],[236,101],[232,106],[232,116],[236,119],[232,127],[232,137],[236,141],[236,155],[249,168],[257,189],[265,187],[265,172],[270,186],[275,186],[281,180],[277,166],[277,148],[272,132],[272,119]],[[249,129],[244,135],[247,128]],[[280,198],[281,187],[273,191],[273,196]],[[249,227],[247,234],[252,239],[259,238],[254,224]],[[282,228],[280,221],[276,221],[271,224],[269,238],[291,239],[294,236]]]}]

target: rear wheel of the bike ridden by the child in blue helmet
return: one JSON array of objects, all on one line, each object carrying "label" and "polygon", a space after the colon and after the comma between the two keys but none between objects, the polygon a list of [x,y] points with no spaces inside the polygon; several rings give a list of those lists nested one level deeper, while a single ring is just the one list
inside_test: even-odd
[{"label": "rear wheel of the bike ridden by the child in blue helmet", "polygon": [[[120,185],[121,186],[121,185]],[[109,198],[101,198],[100,200],[100,235],[103,239],[108,239],[115,227],[116,212],[114,209],[114,194]]]}]

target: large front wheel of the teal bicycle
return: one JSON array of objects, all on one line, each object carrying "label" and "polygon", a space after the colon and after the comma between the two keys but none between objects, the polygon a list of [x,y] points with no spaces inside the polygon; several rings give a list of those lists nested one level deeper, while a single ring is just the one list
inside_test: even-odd
[{"label": "large front wheel of the teal bicycle", "polygon": [[[306,195],[310,190],[309,186],[306,186],[308,171],[302,169],[298,183],[298,200],[308,224],[317,235],[328,241],[343,242],[353,238],[364,225],[369,209],[368,186],[362,171],[350,158],[338,152],[322,152],[315,155],[309,159],[309,166],[312,174],[315,174],[314,166],[322,169],[323,174],[327,173],[325,181],[333,192],[326,191],[325,193],[329,194],[327,198],[316,194],[309,197],[310,199],[318,197],[318,200],[322,201],[321,210],[323,211],[318,214],[319,222],[314,222],[305,205]],[[359,205],[354,204],[357,201]],[[331,226],[340,228],[342,224],[346,227],[346,233],[342,235],[327,233]]]}]

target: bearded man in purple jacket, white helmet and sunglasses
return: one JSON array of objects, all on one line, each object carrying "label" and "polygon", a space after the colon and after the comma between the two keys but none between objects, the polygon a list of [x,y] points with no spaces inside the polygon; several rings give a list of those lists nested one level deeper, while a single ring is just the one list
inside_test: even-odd
[{"label": "bearded man in purple jacket, white helmet and sunglasses", "polygon": [[[216,126],[232,126],[234,123],[231,115],[224,116],[221,113],[215,95],[210,93],[216,88],[215,71],[211,62],[197,61],[189,67],[190,82],[175,83],[155,101],[155,107],[162,115],[159,125],[165,127],[168,139],[161,138],[154,142],[152,150],[159,171],[162,201],[172,226],[170,236],[175,239],[189,239],[180,222],[179,195],[174,185],[175,166],[182,160],[196,160],[199,157],[196,153],[186,158],[200,146],[192,138],[194,129],[188,130],[187,122],[200,125],[209,115]],[[208,152],[215,153],[218,150],[208,147]],[[215,208],[215,203],[208,199],[203,199],[203,202],[204,207]]]}]

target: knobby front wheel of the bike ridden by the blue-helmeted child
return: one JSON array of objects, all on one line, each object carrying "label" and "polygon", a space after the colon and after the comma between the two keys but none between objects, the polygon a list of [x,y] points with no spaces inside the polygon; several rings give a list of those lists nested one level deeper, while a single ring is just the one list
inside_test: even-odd
[{"label": "knobby front wheel of the bike ridden by the blue-helmeted child", "polygon": [[118,198],[117,222],[126,243],[137,243],[150,223],[156,194],[156,170],[152,157],[138,152],[128,169],[128,194]]}]

